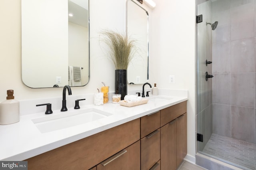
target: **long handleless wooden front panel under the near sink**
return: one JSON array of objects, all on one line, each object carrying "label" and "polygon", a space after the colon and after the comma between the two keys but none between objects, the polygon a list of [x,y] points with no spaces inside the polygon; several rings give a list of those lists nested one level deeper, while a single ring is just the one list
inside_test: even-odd
[{"label": "long handleless wooden front panel under the near sink", "polygon": [[30,169],[88,170],[138,140],[140,119],[29,158],[28,166]]}]

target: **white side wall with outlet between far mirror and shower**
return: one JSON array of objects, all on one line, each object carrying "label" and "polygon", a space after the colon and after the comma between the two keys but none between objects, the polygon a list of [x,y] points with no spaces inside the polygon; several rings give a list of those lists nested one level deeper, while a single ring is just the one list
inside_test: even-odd
[{"label": "white side wall with outlet between far mirror and shower", "polygon": [[[155,1],[150,22],[150,82],[159,88],[187,89],[188,154],[195,155],[195,1]],[[154,68],[154,69],[152,69]],[[169,75],[175,83],[169,83]]]}]

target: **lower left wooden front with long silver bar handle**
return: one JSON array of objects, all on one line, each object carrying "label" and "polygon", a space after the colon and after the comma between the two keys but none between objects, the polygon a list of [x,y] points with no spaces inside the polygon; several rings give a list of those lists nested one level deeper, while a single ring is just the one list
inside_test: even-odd
[{"label": "lower left wooden front with long silver bar handle", "polygon": [[140,140],[98,164],[97,170],[140,170]]}]

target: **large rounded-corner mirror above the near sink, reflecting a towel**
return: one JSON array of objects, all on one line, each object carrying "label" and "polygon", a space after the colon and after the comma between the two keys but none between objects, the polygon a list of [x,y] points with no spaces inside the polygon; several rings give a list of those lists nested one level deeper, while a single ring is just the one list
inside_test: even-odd
[{"label": "large rounded-corner mirror above the near sink, reflecting a towel", "polygon": [[21,0],[22,81],[31,88],[89,82],[89,0]]}]

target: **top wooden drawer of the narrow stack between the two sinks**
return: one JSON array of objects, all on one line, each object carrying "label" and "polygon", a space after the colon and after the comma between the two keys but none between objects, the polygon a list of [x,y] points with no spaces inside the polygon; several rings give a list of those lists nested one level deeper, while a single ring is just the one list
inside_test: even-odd
[{"label": "top wooden drawer of the narrow stack between the two sinks", "polygon": [[160,128],[160,111],[140,118],[140,138]]}]

